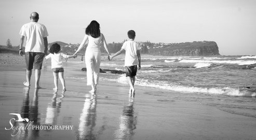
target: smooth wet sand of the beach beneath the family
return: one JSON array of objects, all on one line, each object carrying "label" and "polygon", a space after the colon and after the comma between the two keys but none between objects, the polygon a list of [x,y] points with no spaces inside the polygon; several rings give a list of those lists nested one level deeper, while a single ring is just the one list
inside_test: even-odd
[{"label": "smooth wet sand of the beach beneath the family", "polygon": [[[52,90],[50,61],[42,69],[42,89],[34,88],[34,71],[31,87],[23,86],[24,65],[1,67],[1,139],[255,139],[255,118],[151,94],[172,94],[168,90],[136,86],[136,95],[131,97],[128,85],[100,81],[97,93],[92,94],[85,80],[69,78],[86,75],[81,65],[64,67],[65,92]],[[10,119],[18,118],[10,113],[33,123],[29,129],[11,130]],[[28,125],[26,121],[11,123],[13,128]],[[72,130],[33,130],[33,126],[72,126]]]}]

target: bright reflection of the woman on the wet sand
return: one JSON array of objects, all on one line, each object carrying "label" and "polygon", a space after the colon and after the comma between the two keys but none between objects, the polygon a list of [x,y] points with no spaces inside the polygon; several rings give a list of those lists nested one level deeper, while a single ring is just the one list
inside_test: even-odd
[{"label": "bright reflection of the woman on the wet sand", "polygon": [[87,94],[84,108],[79,118],[77,139],[96,139],[96,135],[92,133],[93,128],[96,126],[96,105],[97,96]]}]

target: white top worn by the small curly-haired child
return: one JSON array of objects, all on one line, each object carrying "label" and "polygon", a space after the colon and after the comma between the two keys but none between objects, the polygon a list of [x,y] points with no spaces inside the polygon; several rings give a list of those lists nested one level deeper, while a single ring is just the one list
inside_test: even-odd
[{"label": "white top worn by the small curly-haired child", "polygon": [[51,69],[53,68],[63,68],[62,65],[62,57],[64,57],[65,59],[68,58],[68,55],[65,55],[63,53],[50,53],[49,55],[47,55],[45,57],[45,59],[51,58]]}]

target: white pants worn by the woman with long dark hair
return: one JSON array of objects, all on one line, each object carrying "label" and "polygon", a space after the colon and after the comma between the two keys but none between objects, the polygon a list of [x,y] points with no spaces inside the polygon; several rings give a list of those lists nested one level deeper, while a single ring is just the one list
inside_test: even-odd
[{"label": "white pants worn by the woman with long dark hair", "polygon": [[85,64],[87,69],[87,85],[96,85],[99,83],[100,58],[101,53],[86,50]]}]

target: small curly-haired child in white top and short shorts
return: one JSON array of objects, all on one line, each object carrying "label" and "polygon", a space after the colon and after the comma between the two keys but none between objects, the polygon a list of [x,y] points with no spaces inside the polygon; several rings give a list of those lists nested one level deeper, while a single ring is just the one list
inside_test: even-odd
[{"label": "small curly-haired child in white top and short shorts", "polygon": [[53,71],[53,76],[54,76],[54,84],[55,88],[53,90],[58,90],[58,79],[60,77],[60,82],[63,87],[63,91],[66,91],[66,86],[65,86],[65,80],[64,80],[64,69],[62,65],[62,57],[65,59],[68,58],[76,58],[77,55],[65,55],[63,53],[60,53],[60,45],[58,43],[54,43],[51,45],[50,48],[50,54],[45,57],[45,59],[51,58],[51,69]]}]

